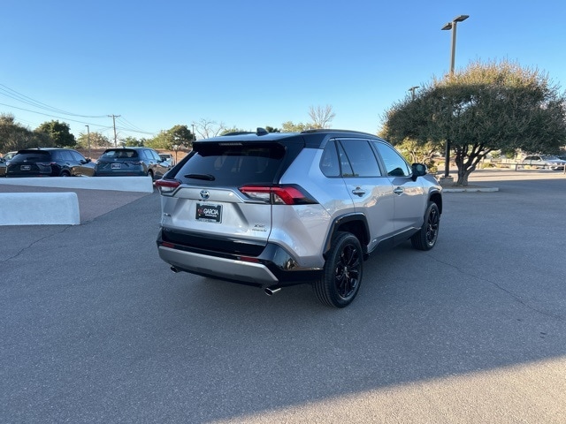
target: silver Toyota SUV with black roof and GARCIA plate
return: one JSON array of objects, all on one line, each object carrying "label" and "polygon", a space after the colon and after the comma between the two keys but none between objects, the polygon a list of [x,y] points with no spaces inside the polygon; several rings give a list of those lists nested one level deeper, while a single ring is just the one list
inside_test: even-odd
[{"label": "silver Toyota SUV with black roof and GARCIA plate", "polygon": [[369,254],[436,244],[442,193],[423,164],[343,130],[198,140],[164,178],[157,248],[175,272],[267,294],[312,284],[330,307],[356,298]]}]

